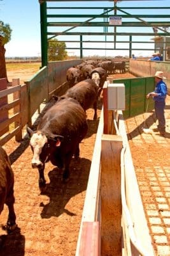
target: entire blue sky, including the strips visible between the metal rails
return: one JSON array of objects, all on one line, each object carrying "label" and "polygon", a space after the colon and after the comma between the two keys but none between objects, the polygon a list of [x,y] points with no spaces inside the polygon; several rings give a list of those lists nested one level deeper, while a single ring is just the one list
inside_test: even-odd
[{"label": "entire blue sky, including the strips visible between the metal rails", "polygon": [[[103,2],[95,2],[97,4],[97,6],[104,6]],[[54,2],[54,3],[50,3],[48,2],[48,6],[60,6],[60,2]],[[81,6],[82,2],[64,2],[65,6]],[[62,6],[64,6],[64,4],[62,3]],[[108,3],[105,3],[106,6],[108,6]],[[128,6],[170,6],[170,0],[153,0],[153,1],[119,1],[117,4],[119,7],[128,7]],[[86,3],[83,6],[94,6],[94,3]],[[113,6],[113,1],[110,1],[110,6]],[[56,12],[56,10],[54,11]],[[62,11],[57,11],[57,12],[62,12]],[[65,10],[64,12],[71,12],[71,10]],[[78,11],[80,14],[80,10]],[[82,11],[83,12],[83,11]],[[87,12],[87,11],[86,11]],[[90,11],[89,11],[90,12]],[[101,13],[101,10],[98,10],[99,13]],[[126,10],[126,12],[129,13],[133,13],[137,11],[136,10]],[[147,10],[141,10],[138,12],[141,12],[143,14],[147,13]],[[153,11],[153,10],[148,10],[148,12],[150,14],[155,13],[155,14],[159,14],[160,11]],[[163,10],[162,11],[165,14],[169,14],[170,10]],[[75,13],[75,11],[74,11]],[[96,13],[97,14],[97,10],[92,10],[92,14]],[[85,18],[86,20],[88,18]],[[11,34],[11,41],[5,45],[6,48],[6,57],[9,56],[39,56],[41,55],[41,33],[40,33],[40,13],[39,13],[39,1],[38,0],[3,0],[0,1],[0,20],[3,20],[4,23],[8,23],[11,26],[12,29],[12,34]],[[53,20],[54,21],[54,20]],[[62,21],[60,19],[60,21]],[[66,19],[64,20],[66,21]],[[73,21],[73,20],[72,20]],[[130,20],[129,20],[130,21]],[[136,20],[135,20],[136,21]],[[50,31],[49,28],[48,31]],[[55,28],[55,31],[59,31],[59,29],[62,30],[66,30],[66,28]],[[82,27],[80,29],[83,29]],[[88,28],[88,31],[90,31],[90,29],[94,29],[93,31],[97,31],[98,28]],[[101,32],[103,32],[103,28]],[[113,28],[108,28],[108,29],[112,29]],[[123,29],[123,28],[118,28]],[[128,28],[124,28],[124,29],[128,29]],[[135,28],[133,28],[135,29]],[[143,28],[146,30],[146,28]],[[73,31],[78,31],[76,29],[74,29]],[[99,30],[98,30],[99,31]],[[148,28],[147,29],[148,32],[152,32],[152,28]],[[64,38],[64,39],[63,39]],[[59,40],[68,40],[68,38],[65,37],[58,37]],[[99,38],[99,37],[98,37]],[[148,38],[148,40],[150,40],[151,36]],[[125,38],[125,40],[128,40],[129,38]],[[69,40],[80,40],[80,36],[76,36],[76,38],[71,38],[69,36]],[[86,38],[83,38],[83,40],[104,40],[103,37],[97,39],[97,37],[93,37],[93,36],[87,36]],[[109,37],[107,36],[107,40],[113,40],[113,36]],[[118,40],[118,38],[117,38]],[[134,40],[137,40],[136,38]],[[146,38],[144,39],[146,40]],[[139,41],[141,41],[141,38],[139,38]],[[110,47],[109,43],[104,43],[106,45],[106,47]],[[103,47],[105,47],[105,45],[103,44]],[[69,46],[73,46],[76,47],[75,44],[72,43],[67,43],[67,45]],[[92,44],[91,44],[92,45]],[[101,47],[102,44],[97,44],[95,43],[96,47]],[[113,45],[113,44],[112,44]],[[80,45],[78,44],[78,47]],[[89,45],[87,45],[87,47],[89,47]],[[94,45],[92,45],[92,47],[94,47]],[[122,45],[122,47],[124,47],[124,45]],[[128,44],[127,44],[128,47]],[[140,47],[143,47],[140,45]],[[150,45],[146,45],[145,47],[152,47],[153,46]],[[119,45],[119,48],[121,48],[121,44]],[[67,52],[69,54],[75,54],[75,55],[79,55],[80,51],[79,50],[71,50],[68,49]],[[92,56],[94,54],[100,54],[101,51],[99,50],[85,50],[85,55],[86,56]],[[147,51],[147,52],[141,52],[141,51],[134,51],[133,53],[138,56],[140,54],[143,55],[150,55],[152,54],[153,51]],[[128,55],[129,51],[103,51],[103,54],[108,54],[108,56],[113,55],[118,55],[118,54],[123,54],[123,55]]]}]

